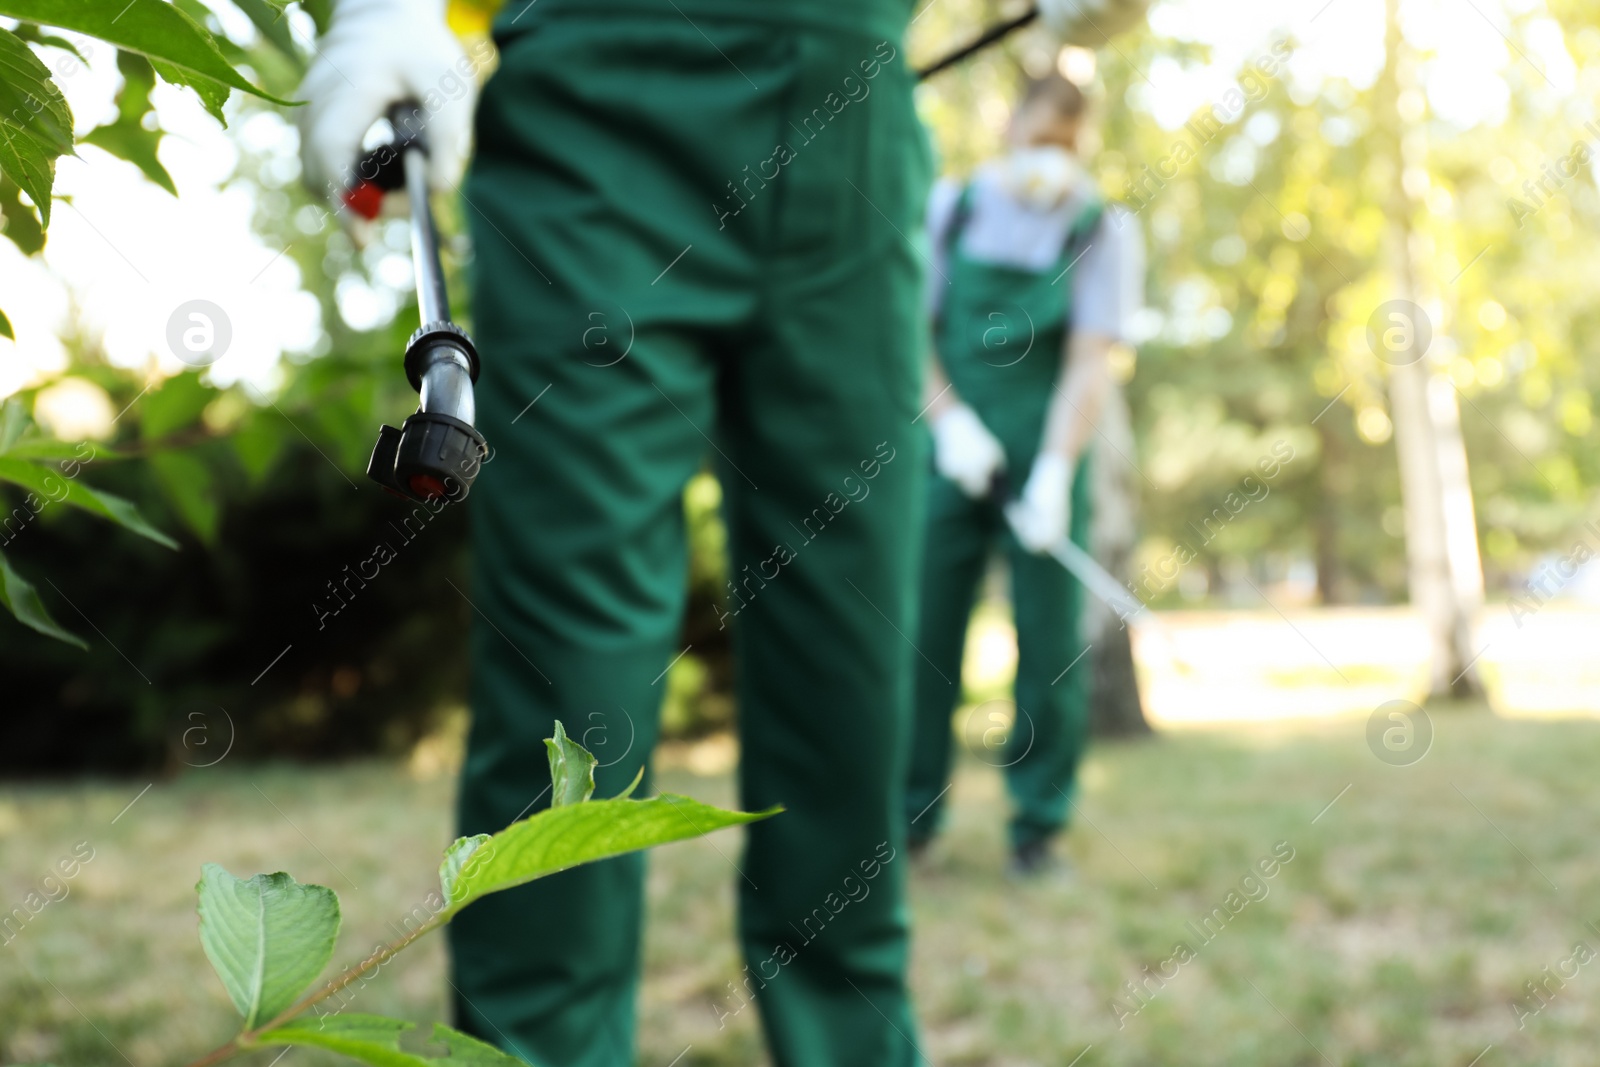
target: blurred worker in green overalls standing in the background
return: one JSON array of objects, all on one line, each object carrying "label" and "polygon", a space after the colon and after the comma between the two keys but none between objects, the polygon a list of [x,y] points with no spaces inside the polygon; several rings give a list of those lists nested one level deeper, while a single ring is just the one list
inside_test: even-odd
[{"label": "blurred worker in green overalls standing in the background", "polygon": [[907,825],[915,851],[939,827],[966,624],[998,544],[1016,614],[1014,720],[978,728],[998,741],[979,755],[1005,768],[1018,875],[1059,862],[1051,840],[1067,824],[1088,733],[1083,589],[1048,549],[1069,536],[1088,547],[1090,445],[1107,357],[1126,339],[1142,286],[1133,216],[1102,203],[1075,155],[1083,109],[1072,82],[1035,80],[1014,110],[1006,155],[966,184],[941,182],[930,203],[938,275],[925,418],[936,477]]}]

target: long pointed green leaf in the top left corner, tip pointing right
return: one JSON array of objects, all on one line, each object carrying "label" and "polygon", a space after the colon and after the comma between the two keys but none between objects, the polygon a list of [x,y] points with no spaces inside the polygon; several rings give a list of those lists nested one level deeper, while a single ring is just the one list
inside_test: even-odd
[{"label": "long pointed green leaf in the top left corner, tip pointing right", "polygon": [[202,99],[218,90],[226,98],[230,86],[274,104],[293,102],[246,82],[229,66],[211,34],[165,0],[131,0],[126,6],[104,0],[0,0],[0,16],[77,30],[160,61],[166,67],[162,77],[197,90],[208,85]]}]

